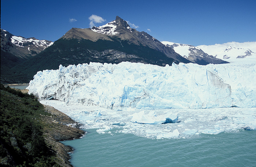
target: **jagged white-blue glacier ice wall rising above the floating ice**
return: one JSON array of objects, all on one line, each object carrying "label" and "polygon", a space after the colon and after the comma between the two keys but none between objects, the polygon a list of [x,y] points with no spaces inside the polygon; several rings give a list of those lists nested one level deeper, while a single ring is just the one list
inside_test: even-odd
[{"label": "jagged white-blue glacier ice wall rising above the floating ice", "polygon": [[79,64],[39,71],[29,93],[68,104],[137,109],[256,107],[256,64]]}]

